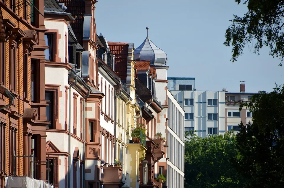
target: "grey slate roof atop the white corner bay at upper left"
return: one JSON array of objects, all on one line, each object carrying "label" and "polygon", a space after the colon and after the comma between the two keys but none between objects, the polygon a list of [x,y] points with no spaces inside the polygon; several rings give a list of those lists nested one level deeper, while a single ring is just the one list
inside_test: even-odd
[{"label": "grey slate roof atop the white corner bay at upper left", "polygon": [[69,17],[70,20],[75,20],[75,18],[71,14],[65,12],[61,8],[57,0],[44,0],[43,8],[44,8],[44,13],[63,15]]}]

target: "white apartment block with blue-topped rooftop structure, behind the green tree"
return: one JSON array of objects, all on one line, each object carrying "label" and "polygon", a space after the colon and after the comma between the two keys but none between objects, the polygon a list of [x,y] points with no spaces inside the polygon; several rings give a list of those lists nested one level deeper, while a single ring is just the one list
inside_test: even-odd
[{"label": "white apartment block with blue-topped rooftop structure, behind the green tree", "polygon": [[168,88],[185,111],[185,131],[197,136],[225,133],[225,91],[196,91],[194,78],[168,78]]}]

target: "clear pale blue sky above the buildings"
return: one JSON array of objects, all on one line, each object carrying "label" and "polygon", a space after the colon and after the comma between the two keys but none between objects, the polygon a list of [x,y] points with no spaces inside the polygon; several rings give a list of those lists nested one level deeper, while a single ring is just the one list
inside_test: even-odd
[{"label": "clear pale blue sky above the buildings", "polygon": [[[68,7],[67,7],[68,8]],[[233,14],[242,16],[246,6],[235,0],[98,0],[97,34],[113,42],[133,42],[138,47],[149,38],[168,56],[168,77],[195,77],[197,90],[239,92],[272,91],[284,83],[284,66],[269,56],[269,49],[253,53],[247,45],[237,62],[231,62],[231,47],[225,47],[225,30]]]}]

